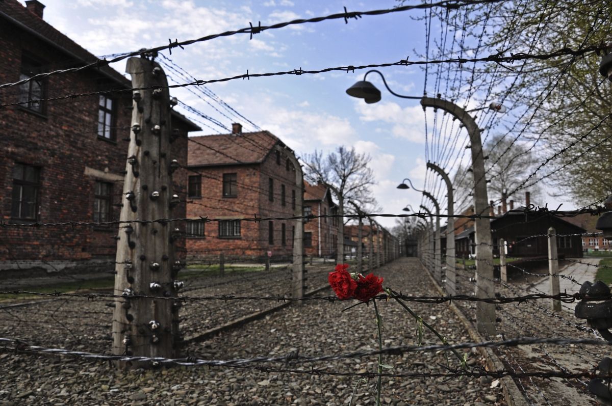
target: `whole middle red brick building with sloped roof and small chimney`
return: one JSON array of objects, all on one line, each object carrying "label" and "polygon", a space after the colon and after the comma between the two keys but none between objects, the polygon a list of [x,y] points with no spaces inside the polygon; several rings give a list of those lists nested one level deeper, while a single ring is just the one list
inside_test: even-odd
[{"label": "whole middle red brick building with sloped roof and small chimney", "polygon": [[268,131],[232,127],[231,134],[189,139],[187,216],[219,221],[187,224],[187,258],[261,260],[270,251],[272,260],[288,260],[295,220],[239,219],[293,216],[302,201],[299,163]]}]

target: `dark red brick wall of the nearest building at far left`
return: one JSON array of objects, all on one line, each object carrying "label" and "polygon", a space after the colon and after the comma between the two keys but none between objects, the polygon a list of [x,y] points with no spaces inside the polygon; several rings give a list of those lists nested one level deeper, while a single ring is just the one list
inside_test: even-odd
[{"label": "dark red brick wall of the nearest building at far left", "polygon": [[[19,79],[24,55],[40,61],[44,72],[73,65],[67,54],[31,34],[16,32],[15,27],[1,23],[0,83]],[[53,75],[44,83],[47,97],[122,87],[95,70]],[[1,89],[0,100],[3,103],[18,101],[19,92],[17,86]],[[126,107],[131,106],[132,101],[130,92],[109,96],[116,104],[116,141],[97,135],[98,95],[47,102],[43,114],[18,106],[0,110],[2,221],[13,221],[12,171],[15,163],[40,168],[36,220],[41,223],[93,221],[96,180],[113,183],[112,203],[121,202],[120,179],[125,170],[128,146],[123,138],[130,136],[132,114]],[[173,144],[171,159],[185,163],[185,128],[182,128],[182,135],[183,138]],[[184,175],[179,172],[175,179],[184,179]],[[119,211],[119,207],[112,207],[111,220],[118,220]],[[184,206],[179,206],[174,214],[182,216],[184,211]],[[116,226],[6,227],[0,234],[0,269],[14,267],[15,260],[26,264],[51,262],[54,267],[94,259],[114,260],[116,241],[112,237],[116,234]],[[184,251],[184,246],[178,251]]]}]

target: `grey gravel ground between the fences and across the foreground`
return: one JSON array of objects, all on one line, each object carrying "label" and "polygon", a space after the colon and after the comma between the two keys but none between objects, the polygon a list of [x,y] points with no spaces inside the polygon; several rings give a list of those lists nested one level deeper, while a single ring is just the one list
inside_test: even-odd
[{"label": "grey gravel ground between the fences and across the foreground", "polygon": [[[331,268],[331,265],[330,265]],[[331,269],[329,269],[331,270]],[[315,287],[326,282],[327,271],[309,273]],[[382,267],[385,286],[410,295],[437,295],[416,259],[399,259]],[[284,275],[284,276],[283,276]],[[193,282],[190,296],[228,293],[277,294],[286,289],[288,275],[279,270],[267,275],[241,275]],[[276,283],[276,284],[275,284]],[[285,287],[283,287],[285,286]],[[330,295],[326,290],[319,294]],[[237,314],[269,304],[261,301],[206,301],[185,306],[185,328],[205,330]],[[54,300],[0,309],[0,336],[22,338],[30,344],[91,352],[110,349],[110,314],[106,300]],[[6,304],[5,304],[6,306]],[[190,344],[188,355],[207,359],[253,356],[329,355],[376,348],[376,322],[372,306],[342,311],[348,303],[305,301],[226,331],[208,341]],[[455,314],[444,304],[411,303],[411,308],[434,325],[449,342],[470,341]],[[384,345],[412,345],[414,320],[394,301],[380,302]],[[425,330],[424,344],[439,344]],[[476,353],[467,351],[468,364],[483,366]],[[452,355],[418,352],[386,355],[391,374],[447,372],[458,367]],[[152,371],[118,371],[100,361],[55,355],[32,355],[0,350],[0,405],[373,405],[374,380],[329,374],[259,372],[231,367],[173,367]],[[447,364],[449,363],[449,364]],[[304,363],[257,363],[272,369],[311,368],[329,372],[375,372],[376,356]],[[491,388],[493,386],[493,388]],[[384,405],[505,405],[501,388],[487,378],[384,378]],[[354,396],[351,400],[351,394]]]}]

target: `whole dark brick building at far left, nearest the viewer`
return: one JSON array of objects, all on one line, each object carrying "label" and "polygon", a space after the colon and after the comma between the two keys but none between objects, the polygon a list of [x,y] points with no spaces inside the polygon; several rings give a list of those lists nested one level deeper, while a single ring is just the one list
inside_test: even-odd
[{"label": "whole dark brick building at far left, nearest the viewer", "polygon": [[[0,1],[0,83],[81,67],[97,58],[43,20],[38,1]],[[109,67],[60,73],[0,89],[0,213],[4,223],[103,223],[118,220],[130,136],[129,79]],[[55,101],[28,101],[116,89]],[[173,113],[179,139],[170,159],[187,160],[187,132],[200,130]],[[174,179],[181,179],[175,172]],[[184,175],[182,175],[184,176]],[[174,191],[185,185],[174,185]],[[174,210],[184,215],[185,205]],[[184,226],[182,226],[184,227]],[[117,227],[4,227],[0,270],[114,261]],[[108,266],[106,266],[108,268]]]}]

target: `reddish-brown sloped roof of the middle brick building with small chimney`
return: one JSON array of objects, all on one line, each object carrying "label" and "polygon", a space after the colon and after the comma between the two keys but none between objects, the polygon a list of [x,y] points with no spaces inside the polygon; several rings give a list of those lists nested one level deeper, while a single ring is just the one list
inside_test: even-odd
[{"label": "reddish-brown sloped roof of the middle brick building with small chimney", "polygon": [[187,165],[221,166],[262,163],[276,144],[284,144],[268,131],[241,135],[190,137]]}]

